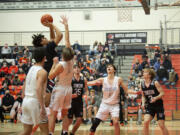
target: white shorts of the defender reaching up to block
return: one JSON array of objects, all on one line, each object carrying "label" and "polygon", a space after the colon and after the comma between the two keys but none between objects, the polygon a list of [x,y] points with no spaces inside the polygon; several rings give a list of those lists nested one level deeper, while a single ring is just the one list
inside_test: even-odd
[{"label": "white shorts of the defender reaching up to block", "polygon": [[53,111],[71,108],[72,87],[55,86],[51,94],[49,108]]}]

